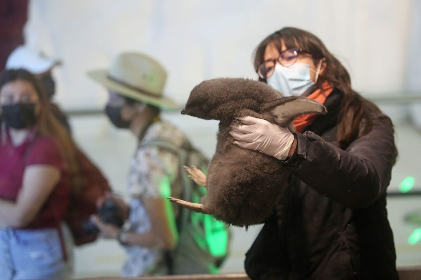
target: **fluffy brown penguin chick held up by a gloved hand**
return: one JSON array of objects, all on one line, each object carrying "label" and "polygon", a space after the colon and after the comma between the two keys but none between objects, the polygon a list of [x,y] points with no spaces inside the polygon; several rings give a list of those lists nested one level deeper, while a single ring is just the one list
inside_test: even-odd
[{"label": "fluffy brown penguin chick held up by a gloved hand", "polygon": [[[221,78],[195,86],[181,113],[219,120],[218,141],[208,166],[207,191],[202,204],[174,198],[170,198],[171,201],[211,214],[230,225],[247,227],[269,217],[289,172],[274,157],[233,144],[229,125],[239,124],[237,117],[252,116],[293,131],[292,120],[298,115],[326,113],[326,109],[305,97],[281,97],[279,92],[262,82]],[[189,173],[194,180],[200,177],[197,170]]]}]

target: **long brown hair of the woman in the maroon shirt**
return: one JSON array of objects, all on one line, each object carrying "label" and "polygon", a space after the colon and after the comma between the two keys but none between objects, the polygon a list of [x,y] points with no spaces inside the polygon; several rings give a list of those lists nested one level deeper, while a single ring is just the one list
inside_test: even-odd
[{"label": "long brown hair of the woman in the maroon shirt", "polygon": [[0,89],[12,81],[23,80],[28,81],[37,92],[40,111],[37,115],[35,126],[37,127],[37,135],[51,137],[57,144],[67,173],[72,177],[75,191],[79,186],[79,167],[76,155],[76,145],[72,140],[66,128],[57,120],[51,111],[51,105],[44,93],[43,88],[37,81],[36,77],[24,69],[11,69],[4,71],[0,76]]}]

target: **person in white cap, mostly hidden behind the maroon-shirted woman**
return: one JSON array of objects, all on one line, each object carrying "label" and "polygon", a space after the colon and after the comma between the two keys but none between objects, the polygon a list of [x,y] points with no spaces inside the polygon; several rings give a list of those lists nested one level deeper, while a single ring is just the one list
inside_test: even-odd
[{"label": "person in white cap, mostly hidden behind the maroon-shirted woman", "polygon": [[35,49],[21,45],[9,55],[6,62],[6,69],[25,69],[34,74],[50,101],[50,110],[56,116],[57,120],[70,131],[67,116],[52,100],[56,93],[53,68],[60,64],[61,62],[57,59],[45,57]]}]

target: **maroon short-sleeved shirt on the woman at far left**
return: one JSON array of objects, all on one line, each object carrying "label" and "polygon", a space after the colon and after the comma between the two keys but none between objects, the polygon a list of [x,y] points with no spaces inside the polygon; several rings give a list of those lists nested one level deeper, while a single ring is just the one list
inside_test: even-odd
[{"label": "maroon short-sleeved shirt on the woman at far left", "polygon": [[16,201],[22,188],[24,170],[30,165],[57,167],[61,171],[61,178],[38,215],[26,228],[57,227],[67,214],[71,180],[53,139],[30,133],[24,143],[13,146],[6,133],[3,143],[0,143],[0,198]]}]

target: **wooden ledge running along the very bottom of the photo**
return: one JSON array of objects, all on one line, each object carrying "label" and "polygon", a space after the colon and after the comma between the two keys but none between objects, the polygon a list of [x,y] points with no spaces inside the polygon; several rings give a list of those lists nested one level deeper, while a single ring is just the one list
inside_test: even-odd
[{"label": "wooden ledge running along the very bottom of the photo", "polygon": [[[421,267],[400,267],[400,280],[421,280]],[[127,278],[86,278],[85,280],[126,280]],[[250,280],[245,274],[201,274],[130,278],[132,280]]]}]

